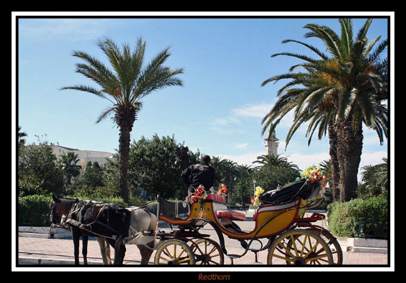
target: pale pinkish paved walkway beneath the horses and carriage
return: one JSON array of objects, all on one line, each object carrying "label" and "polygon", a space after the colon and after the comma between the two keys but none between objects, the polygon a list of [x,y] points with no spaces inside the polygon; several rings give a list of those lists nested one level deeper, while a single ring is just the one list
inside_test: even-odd
[{"label": "pale pinkish paved walkway beneath the horses and carriage", "polygon": [[[250,217],[250,212],[247,213],[247,221],[236,222],[242,230],[252,231],[254,228],[254,222],[252,217]],[[160,230],[170,229],[166,223],[160,223],[158,228]],[[204,228],[200,229],[202,234],[211,234],[211,239],[217,240],[217,235],[215,235],[214,230],[210,225],[206,225]],[[228,254],[238,254],[244,253],[240,243],[234,239],[229,239],[224,235],[225,247]],[[45,239],[45,238],[28,238],[28,237],[18,237],[16,246],[18,247],[18,258],[16,261],[17,269],[20,267],[32,267],[32,266],[55,266],[63,265],[70,266],[74,263],[73,256],[73,242],[70,238],[64,239]],[[81,249],[81,247],[80,247]],[[135,245],[126,245],[126,254],[124,258],[124,264],[126,267],[140,265],[141,256],[138,247]],[[143,266],[147,271],[152,271],[154,268],[154,256],[155,251],[149,261],[148,266]],[[266,267],[266,256],[267,250],[260,251],[257,256],[257,262],[255,262],[255,255],[251,251],[241,257],[233,260],[234,266],[231,265],[231,260],[225,256],[224,264],[225,267],[240,268],[241,266],[248,267]],[[88,264],[89,265],[100,265],[103,264],[100,256],[99,246],[94,238],[89,240],[88,244]],[[111,258],[114,258],[114,249],[111,249]],[[82,255],[80,254],[81,263],[83,262]],[[392,263],[393,264],[393,263]],[[392,265],[393,266],[393,265]],[[73,267],[73,266],[72,266]],[[140,266],[141,267],[141,266]],[[341,267],[375,267],[375,268],[388,268],[388,255],[387,254],[373,254],[373,253],[343,253],[343,266]],[[335,267],[332,267],[333,269]],[[159,268],[158,268],[159,269]],[[286,269],[286,268],[285,268]],[[261,269],[264,271],[263,269]],[[325,269],[323,269],[325,270]],[[286,271],[286,270],[285,270]]]}]

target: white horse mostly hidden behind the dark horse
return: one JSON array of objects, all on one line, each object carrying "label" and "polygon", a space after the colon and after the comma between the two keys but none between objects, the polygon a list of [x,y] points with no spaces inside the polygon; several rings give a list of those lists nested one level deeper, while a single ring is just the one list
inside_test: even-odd
[{"label": "white horse mostly hidden behind the dark horse", "polygon": [[[147,265],[157,242],[155,241],[154,236],[143,235],[143,232],[156,232],[158,224],[156,216],[147,209],[137,206],[126,207],[126,209],[131,212],[131,222],[128,237],[124,242],[125,244],[136,244],[141,253],[141,264]],[[108,240],[104,237],[97,237],[96,239],[100,247],[103,263],[107,265],[112,264]]]}]

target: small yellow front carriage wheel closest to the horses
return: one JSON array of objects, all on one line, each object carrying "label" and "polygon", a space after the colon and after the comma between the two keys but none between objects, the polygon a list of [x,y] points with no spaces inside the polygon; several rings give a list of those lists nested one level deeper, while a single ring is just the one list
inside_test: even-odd
[{"label": "small yellow front carriage wheel closest to the horses", "polygon": [[157,265],[192,265],[194,263],[192,250],[181,240],[164,242],[155,254]]}]

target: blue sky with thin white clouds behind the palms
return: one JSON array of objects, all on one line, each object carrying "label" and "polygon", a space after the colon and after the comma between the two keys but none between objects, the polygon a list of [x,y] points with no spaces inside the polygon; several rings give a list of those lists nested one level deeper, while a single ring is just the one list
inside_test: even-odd
[{"label": "blue sky with thin white clouds behind the palms", "polygon": [[[119,45],[127,42],[134,46],[142,36],[147,42],[147,61],[171,46],[172,55],[166,65],[184,68],[184,74],[180,75],[184,87],[166,88],[146,97],[131,139],[151,138],[155,133],[160,137],[174,135],[193,151],[199,149],[201,153],[250,165],[257,156],[265,154],[261,119],[276,102],[276,91],[286,81],[260,85],[269,77],[288,72],[290,66],[299,62],[270,55],[287,51],[315,57],[306,47],[281,43],[294,39],[322,49],[319,40],[303,37],[307,32],[303,26],[308,23],[329,26],[340,34],[337,18],[320,13],[313,14],[314,18],[261,15],[266,16],[20,18],[16,27],[18,93],[15,97],[13,93],[13,98],[17,98],[18,125],[27,133],[28,143],[38,142],[36,136],[44,136],[43,139],[61,146],[115,152],[118,148],[115,124],[110,119],[95,124],[109,102],[89,93],[59,89],[91,84],[75,73],[75,64],[80,60],[71,55],[73,50],[86,51],[106,61],[95,45],[97,38],[109,37]],[[353,20],[355,34],[368,14],[357,15],[364,18]],[[368,38],[378,36],[388,38],[387,19],[376,18],[371,24]],[[276,129],[280,139],[278,153],[288,156],[300,169],[327,160],[328,137],[320,141],[313,138],[308,146],[306,127],[296,132],[285,150],[291,119],[292,115],[288,115]],[[381,163],[387,154],[387,141],[381,146],[376,133],[364,128],[360,166]]]}]

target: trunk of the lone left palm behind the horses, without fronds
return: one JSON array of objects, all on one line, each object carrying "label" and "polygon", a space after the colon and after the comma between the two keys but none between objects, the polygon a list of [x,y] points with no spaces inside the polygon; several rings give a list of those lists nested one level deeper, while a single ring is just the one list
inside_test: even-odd
[{"label": "trunk of the lone left palm behind the horses, without fronds", "polygon": [[137,109],[135,107],[118,107],[115,118],[120,128],[119,152],[120,160],[118,164],[119,187],[118,194],[124,202],[128,203],[128,159],[130,151],[130,133],[132,125],[137,119]]}]

